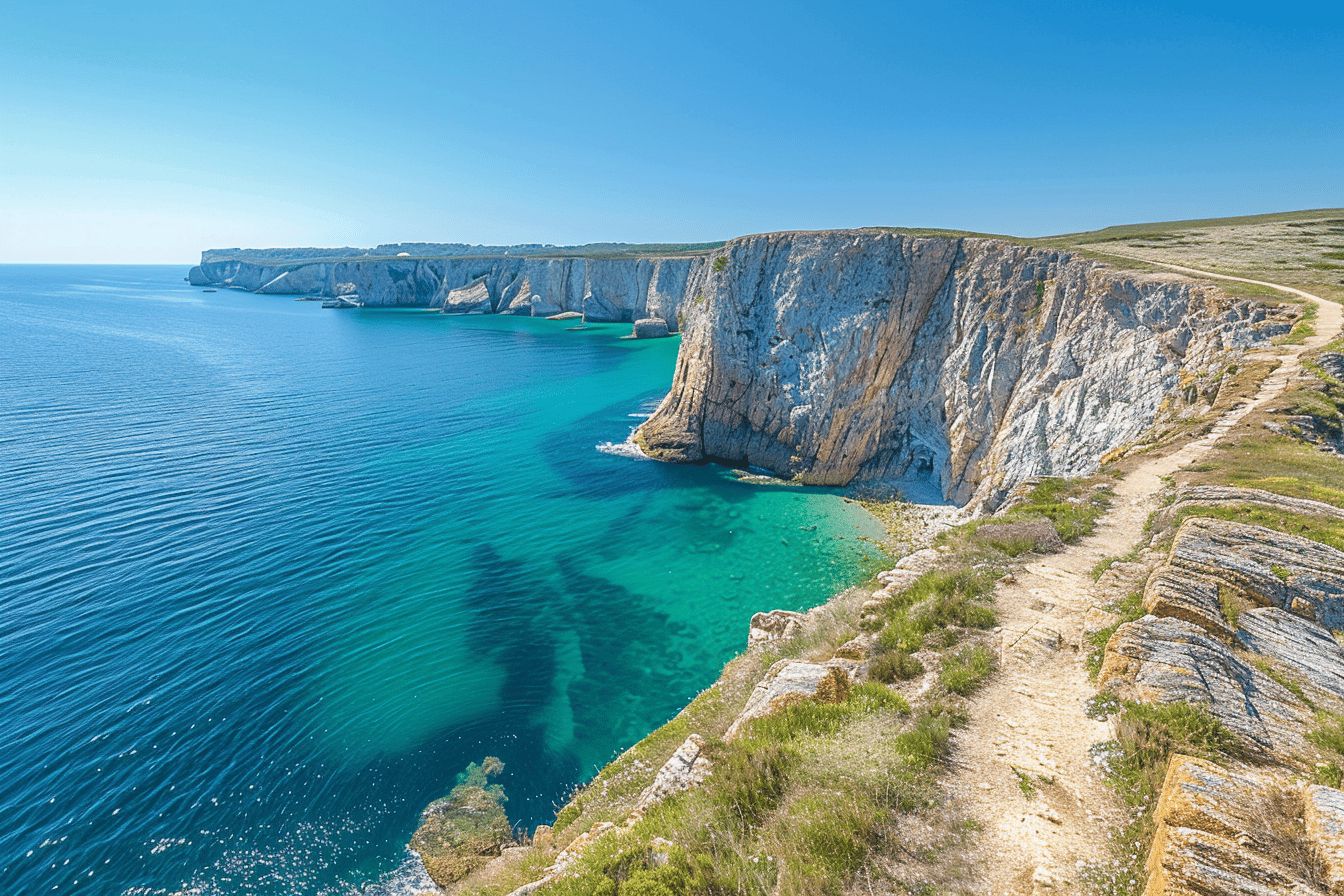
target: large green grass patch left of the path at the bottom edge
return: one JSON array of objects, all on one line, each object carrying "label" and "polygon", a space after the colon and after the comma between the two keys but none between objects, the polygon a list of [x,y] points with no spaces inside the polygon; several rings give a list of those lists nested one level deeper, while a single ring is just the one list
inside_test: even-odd
[{"label": "large green grass patch left of the path at the bottom edge", "polygon": [[702,786],[594,841],[540,892],[839,896],[895,818],[934,805],[934,772],[962,723],[938,705],[910,715],[878,684],[840,703],[790,703],[714,743]]}]

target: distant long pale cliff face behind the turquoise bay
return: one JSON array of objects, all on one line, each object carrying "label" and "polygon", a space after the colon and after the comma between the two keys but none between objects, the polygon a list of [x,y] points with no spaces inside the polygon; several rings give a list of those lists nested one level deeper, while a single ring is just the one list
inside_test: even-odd
[{"label": "distant long pale cliff face behind the turquoise bay", "polygon": [[687,283],[704,263],[703,255],[273,261],[206,251],[188,279],[202,286],[234,286],[255,293],[355,293],[364,305],[378,306],[501,314],[582,312],[591,321],[659,317],[676,329]]}]

